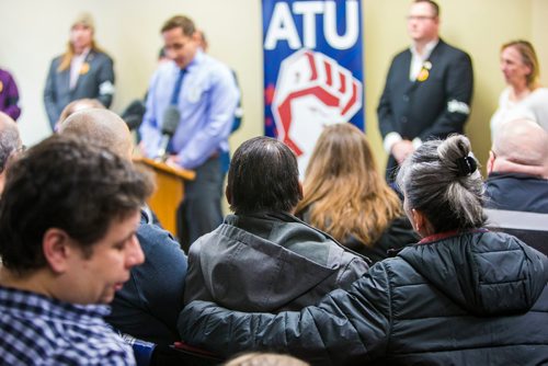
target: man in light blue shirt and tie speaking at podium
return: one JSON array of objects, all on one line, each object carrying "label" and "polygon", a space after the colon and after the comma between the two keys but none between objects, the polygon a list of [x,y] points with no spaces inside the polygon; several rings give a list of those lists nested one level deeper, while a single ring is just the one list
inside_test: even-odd
[{"label": "man in light blue shirt and tie speaking at podium", "polygon": [[167,124],[172,127],[174,122],[168,162],[196,172],[196,179],[185,183],[178,214],[181,243],[187,250],[222,221],[219,155],[228,150],[239,93],[230,69],[202,52],[192,20],[173,16],[161,33],[172,61],[160,65],[152,76],[139,130],[146,155],[157,158],[164,155]]}]

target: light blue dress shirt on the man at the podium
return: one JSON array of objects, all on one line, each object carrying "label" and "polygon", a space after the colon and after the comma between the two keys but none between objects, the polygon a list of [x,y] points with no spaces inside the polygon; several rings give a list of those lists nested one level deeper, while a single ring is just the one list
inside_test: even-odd
[{"label": "light blue dress shirt on the man at the podium", "polygon": [[[202,50],[196,52],[186,71],[178,101],[181,121],[171,139],[171,151],[178,155],[181,167],[195,169],[213,155],[228,151],[240,93],[230,69]],[[174,62],[163,62],[150,82],[140,133],[151,158],[160,146],[163,113],[179,72]]]}]

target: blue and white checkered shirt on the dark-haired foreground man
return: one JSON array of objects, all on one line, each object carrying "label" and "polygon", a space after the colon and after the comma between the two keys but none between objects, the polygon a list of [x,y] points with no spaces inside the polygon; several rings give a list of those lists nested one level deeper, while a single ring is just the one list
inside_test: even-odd
[{"label": "blue and white checkered shirt on the dark-haired foreground man", "polygon": [[0,286],[0,365],[135,365],[109,312]]}]

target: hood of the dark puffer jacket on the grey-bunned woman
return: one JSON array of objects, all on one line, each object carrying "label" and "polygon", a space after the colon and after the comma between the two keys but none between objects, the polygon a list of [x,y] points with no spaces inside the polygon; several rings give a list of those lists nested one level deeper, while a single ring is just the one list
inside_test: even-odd
[{"label": "hood of the dark puffer jacket on the grey-bunned woman", "polygon": [[439,291],[477,316],[528,311],[548,281],[548,259],[517,238],[476,230],[402,250]]}]

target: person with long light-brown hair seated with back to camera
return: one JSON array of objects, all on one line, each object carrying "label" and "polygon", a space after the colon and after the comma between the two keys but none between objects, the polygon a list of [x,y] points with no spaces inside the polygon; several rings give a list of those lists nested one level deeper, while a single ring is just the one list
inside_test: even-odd
[{"label": "person with long light-brown hair seated with back to camera", "polygon": [[349,123],[327,126],[308,162],[296,216],[378,262],[419,237],[379,175],[367,138]]}]

